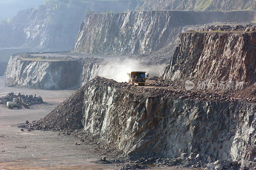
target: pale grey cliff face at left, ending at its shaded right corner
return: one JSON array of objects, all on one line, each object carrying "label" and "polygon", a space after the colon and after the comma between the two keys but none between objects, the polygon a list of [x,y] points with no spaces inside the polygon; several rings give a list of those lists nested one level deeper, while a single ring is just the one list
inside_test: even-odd
[{"label": "pale grey cliff face at left, ending at its shaded right corner", "polygon": [[67,89],[79,85],[82,66],[74,61],[36,61],[11,56],[4,77],[25,87]]}]

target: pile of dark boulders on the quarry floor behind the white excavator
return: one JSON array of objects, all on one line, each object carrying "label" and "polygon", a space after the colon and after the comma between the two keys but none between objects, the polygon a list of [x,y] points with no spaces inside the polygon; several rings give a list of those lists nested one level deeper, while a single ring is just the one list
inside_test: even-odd
[{"label": "pile of dark boulders on the quarry floor behind the white excavator", "polygon": [[21,97],[25,100],[26,104],[41,104],[43,99],[41,96],[36,97],[36,94],[33,95],[21,95],[20,93],[15,95],[13,92],[8,93],[8,95],[0,97],[0,104],[6,104],[7,102],[12,102],[13,98]]}]

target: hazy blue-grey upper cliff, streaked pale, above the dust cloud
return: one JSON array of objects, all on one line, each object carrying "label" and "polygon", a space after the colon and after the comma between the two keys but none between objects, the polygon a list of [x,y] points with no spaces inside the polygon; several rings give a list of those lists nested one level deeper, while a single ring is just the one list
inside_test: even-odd
[{"label": "hazy blue-grey upper cliff, streaked pale, above the dust cloud", "polygon": [[255,12],[133,11],[85,17],[73,49],[78,53],[141,54],[175,44],[186,25],[251,22]]}]

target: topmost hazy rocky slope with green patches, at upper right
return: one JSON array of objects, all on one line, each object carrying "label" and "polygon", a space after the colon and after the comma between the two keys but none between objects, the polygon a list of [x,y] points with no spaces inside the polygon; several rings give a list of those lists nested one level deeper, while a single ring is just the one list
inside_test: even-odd
[{"label": "topmost hazy rocky slope with green patches, at upper right", "polygon": [[195,11],[236,11],[254,10],[254,0],[147,0],[137,9],[144,10],[195,10]]}]

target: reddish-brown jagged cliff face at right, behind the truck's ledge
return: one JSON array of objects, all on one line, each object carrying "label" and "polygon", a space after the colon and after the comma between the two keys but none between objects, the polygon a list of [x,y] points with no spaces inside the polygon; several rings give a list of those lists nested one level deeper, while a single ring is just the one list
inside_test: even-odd
[{"label": "reddish-brown jagged cliff face at right, behind the truck's ledge", "polygon": [[256,32],[182,33],[164,78],[255,82]]}]

